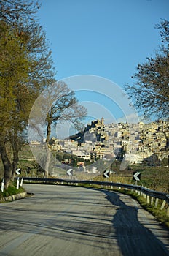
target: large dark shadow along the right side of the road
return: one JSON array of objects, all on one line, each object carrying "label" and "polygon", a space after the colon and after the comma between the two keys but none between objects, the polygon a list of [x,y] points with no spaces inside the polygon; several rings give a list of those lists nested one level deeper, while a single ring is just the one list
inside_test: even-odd
[{"label": "large dark shadow along the right side of the road", "polygon": [[[167,256],[167,244],[162,244],[151,230],[138,220],[138,207],[124,203],[116,192],[103,191],[106,199],[117,206],[117,213],[112,219],[117,243],[124,256]],[[123,197],[128,198],[126,195]],[[130,200],[128,200],[129,202]],[[157,222],[157,226],[159,226]],[[158,229],[158,227],[157,227]],[[167,239],[168,237],[166,237]]]}]

